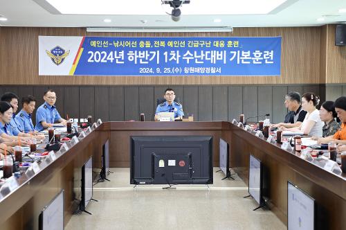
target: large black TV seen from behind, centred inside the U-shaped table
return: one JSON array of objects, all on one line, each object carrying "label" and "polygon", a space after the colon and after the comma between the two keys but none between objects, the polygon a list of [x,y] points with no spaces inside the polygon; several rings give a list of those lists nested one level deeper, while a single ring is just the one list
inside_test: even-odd
[{"label": "large black TV seen from behind, centred inside the U-shaped table", "polygon": [[131,136],[131,184],[212,184],[212,136]]}]

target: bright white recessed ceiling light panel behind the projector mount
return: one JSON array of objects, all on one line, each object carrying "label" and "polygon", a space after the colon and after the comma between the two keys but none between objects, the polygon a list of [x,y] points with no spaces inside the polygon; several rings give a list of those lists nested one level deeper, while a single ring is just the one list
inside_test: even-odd
[{"label": "bright white recessed ceiling light panel behind the projector mount", "polygon": [[[158,0],[46,0],[68,15],[165,15],[167,6]],[[261,15],[291,0],[192,0],[183,4],[183,15]]]}]

